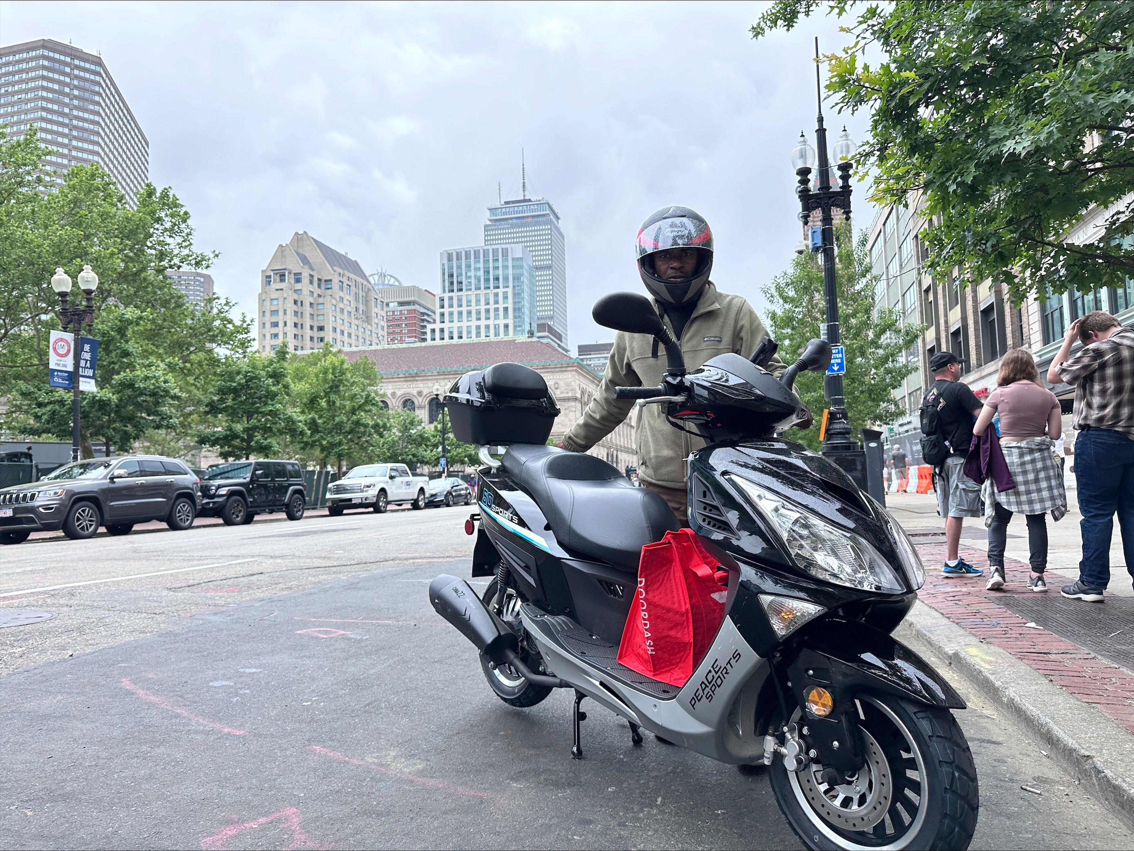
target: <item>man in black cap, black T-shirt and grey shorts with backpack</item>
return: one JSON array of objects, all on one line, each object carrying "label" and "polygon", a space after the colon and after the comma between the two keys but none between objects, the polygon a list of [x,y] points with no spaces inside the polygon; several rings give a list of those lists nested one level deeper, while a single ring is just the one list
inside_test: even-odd
[{"label": "man in black cap, black T-shirt and grey shorts with backpack", "polygon": [[960,363],[951,351],[939,351],[929,359],[933,386],[925,394],[922,408],[932,406],[937,411],[937,428],[950,452],[939,467],[933,488],[937,507],[945,518],[946,561],[941,572],[946,576],[978,577],[980,568],[962,559],[960,527],[966,517],[980,517],[981,486],[965,475],[965,458],[973,442],[973,423],[981,412],[980,399],[958,381]]}]

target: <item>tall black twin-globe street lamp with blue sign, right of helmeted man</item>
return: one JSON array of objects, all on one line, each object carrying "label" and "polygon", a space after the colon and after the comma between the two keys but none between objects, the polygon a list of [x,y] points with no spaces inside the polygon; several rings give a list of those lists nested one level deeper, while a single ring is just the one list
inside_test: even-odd
[{"label": "tall black twin-globe street lamp with blue sign, right of helmeted man", "polygon": [[[792,151],[792,168],[799,178],[796,194],[799,196],[799,220],[804,227],[811,221],[814,211],[819,211],[821,225],[821,244],[823,255],[823,293],[827,303],[827,341],[838,346],[839,337],[839,299],[835,280],[835,220],[832,211],[838,207],[843,218],[850,220],[850,158],[855,144],[846,127],[835,143],[833,154],[839,172],[838,188],[832,186],[831,163],[827,154],[827,128],[823,127],[823,99],[819,80],[819,39],[815,39],[815,95],[819,101],[819,117],[815,127],[815,147],[807,137],[799,134],[799,142]],[[814,188],[811,184],[811,170],[818,163]],[[823,454],[837,463],[864,491],[866,483],[866,454],[862,445],[850,436],[850,419],[846,408],[846,397],[843,388],[843,375],[827,375],[823,380],[823,392],[830,402],[827,432],[823,440]]]}]

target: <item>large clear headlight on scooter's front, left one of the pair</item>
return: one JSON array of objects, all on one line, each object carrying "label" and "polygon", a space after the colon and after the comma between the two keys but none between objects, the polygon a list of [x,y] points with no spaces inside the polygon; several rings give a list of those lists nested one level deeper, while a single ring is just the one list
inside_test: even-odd
[{"label": "large clear headlight on scooter's front, left one of the pair", "polygon": [[868,592],[905,590],[894,568],[869,541],[769,493],[753,482],[729,476],[752,505],[779,531],[795,563],[816,579]]}]

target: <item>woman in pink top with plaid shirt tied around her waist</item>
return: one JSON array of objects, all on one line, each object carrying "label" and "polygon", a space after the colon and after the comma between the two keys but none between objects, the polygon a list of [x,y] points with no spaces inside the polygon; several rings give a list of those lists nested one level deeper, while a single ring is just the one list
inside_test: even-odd
[{"label": "woman in pink top with plaid shirt tied around her waist", "polygon": [[1002,588],[1004,550],[1013,513],[1027,518],[1027,545],[1032,572],[1027,587],[1046,592],[1043,571],[1048,565],[1048,527],[1044,513],[1059,520],[1067,513],[1063,473],[1052,453],[1052,441],[1063,433],[1059,400],[1040,384],[1035,359],[1024,349],[1013,349],[1000,360],[997,389],[984,400],[973,434],[984,434],[992,417],[1000,415],[1000,449],[1016,483],[1010,491],[985,487],[989,527],[988,590]]}]

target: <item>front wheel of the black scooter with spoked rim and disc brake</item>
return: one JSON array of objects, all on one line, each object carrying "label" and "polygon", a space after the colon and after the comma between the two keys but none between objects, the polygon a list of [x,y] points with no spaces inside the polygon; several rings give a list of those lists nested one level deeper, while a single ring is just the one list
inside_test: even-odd
[{"label": "front wheel of the black scooter with spoked rim and disc brake", "polygon": [[[860,695],[866,764],[830,784],[812,761],[771,766],[776,800],[810,849],[967,849],[976,828],[976,768],[948,709],[888,695]],[[795,721],[806,724],[796,709]]]}]

